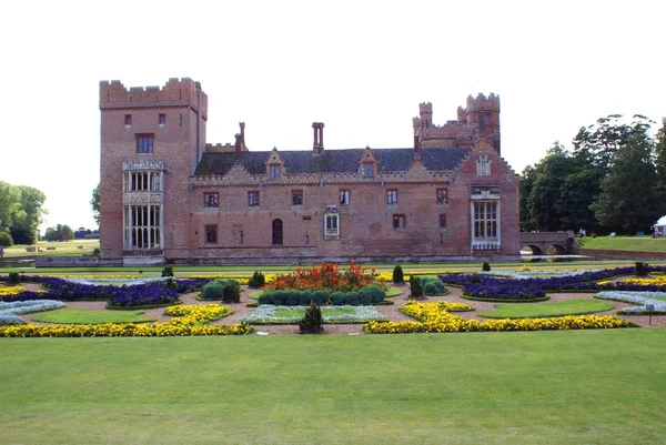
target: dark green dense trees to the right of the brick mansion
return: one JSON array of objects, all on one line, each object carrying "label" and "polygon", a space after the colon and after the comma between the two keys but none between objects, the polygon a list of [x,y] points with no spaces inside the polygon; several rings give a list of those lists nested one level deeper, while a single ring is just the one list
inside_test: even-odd
[{"label": "dark green dense trees to the right of the brick mansion", "polygon": [[610,114],[582,128],[573,151],[555,143],[521,175],[521,230],[647,231],[664,213],[666,121]]}]

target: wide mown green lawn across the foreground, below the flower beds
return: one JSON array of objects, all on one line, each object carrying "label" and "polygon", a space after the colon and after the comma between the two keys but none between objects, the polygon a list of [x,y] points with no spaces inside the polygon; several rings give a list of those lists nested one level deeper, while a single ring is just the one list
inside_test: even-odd
[{"label": "wide mown green lawn across the foreground, below the flower beds", "polygon": [[657,444],[666,330],[0,338],[7,444]]}]

